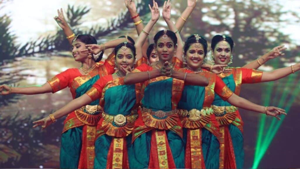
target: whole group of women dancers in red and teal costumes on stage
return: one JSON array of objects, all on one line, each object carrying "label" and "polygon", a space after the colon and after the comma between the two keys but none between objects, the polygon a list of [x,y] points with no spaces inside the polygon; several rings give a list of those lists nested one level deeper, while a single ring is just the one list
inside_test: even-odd
[{"label": "whole group of women dancers in red and teal costumes on stage", "polygon": [[[243,67],[232,63],[234,42],[215,35],[207,40],[194,32],[185,42],[180,31],[196,6],[171,21],[170,0],[161,30],[149,45],[148,35],[160,17],[150,6],[144,27],[135,4],[125,0],[139,35],[135,42],[121,36],[97,45],[92,35],[77,35],[62,9],[54,19],[72,45],[79,68],[67,69],[42,86],[1,85],[0,94],[55,93],[70,88],[73,100],[33,127],[48,127],[67,115],[61,135],[60,168],[242,168],[243,121],[238,108],[265,113],[280,120],[285,110],[261,106],[239,97],[241,84],[274,81],[300,69],[300,64],[271,72],[255,70],[282,56],[284,46]],[[114,48],[101,61],[104,51]]]}]

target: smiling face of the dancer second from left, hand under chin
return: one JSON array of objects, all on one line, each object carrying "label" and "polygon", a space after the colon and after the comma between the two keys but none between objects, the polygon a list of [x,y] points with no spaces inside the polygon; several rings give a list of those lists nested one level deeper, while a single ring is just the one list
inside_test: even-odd
[{"label": "smiling face of the dancer second from left, hand under chin", "polygon": [[121,69],[121,66],[125,69],[128,66],[130,66],[131,68],[133,67],[134,55],[130,48],[127,48],[126,50],[123,50],[122,48],[119,49],[116,54],[116,65],[119,70]]}]

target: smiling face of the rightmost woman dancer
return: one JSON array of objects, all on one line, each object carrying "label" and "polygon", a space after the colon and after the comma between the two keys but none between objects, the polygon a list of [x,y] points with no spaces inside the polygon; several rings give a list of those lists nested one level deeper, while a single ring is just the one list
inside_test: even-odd
[{"label": "smiling face of the rightmost woman dancer", "polygon": [[231,57],[231,48],[229,43],[222,43],[222,41],[218,42],[214,48],[213,55],[215,64],[228,64]]}]

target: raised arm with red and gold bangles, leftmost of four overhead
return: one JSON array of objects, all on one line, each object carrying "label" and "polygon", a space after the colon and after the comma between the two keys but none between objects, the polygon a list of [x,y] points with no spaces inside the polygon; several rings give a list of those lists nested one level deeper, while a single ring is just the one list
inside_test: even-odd
[{"label": "raised arm with red and gold bangles, leftmost of four overhead", "polygon": [[[143,31],[144,29],[144,24],[140,18],[140,15],[137,13],[137,8],[136,5],[134,3],[133,0],[124,0],[125,2],[125,6],[128,9],[131,19],[133,20],[133,22],[135,23],[135,28],[137,29],[137,35],[140,35],[140,33]],[[149,46],[149,38],[146,38],[146,41],[143,43],[142,46],[142,53],[144,57],[147,57],[147,48]]]}]

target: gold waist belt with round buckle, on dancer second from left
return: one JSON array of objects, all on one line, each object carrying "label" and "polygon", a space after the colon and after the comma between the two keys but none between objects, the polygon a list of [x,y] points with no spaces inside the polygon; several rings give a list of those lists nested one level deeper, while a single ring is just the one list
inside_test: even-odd
[{"label": "gold waist belt with round buckle, on dancer second from left", "polygon": [[117,126],[124,126],[126,123],[133,123],[138,115],[137,112],[132,111],[131,115],[122,115],[122,114],[118,114],[118,115],[109,115],[105,112],[102,113],[102,118],[110,123],[115,123]]}]

